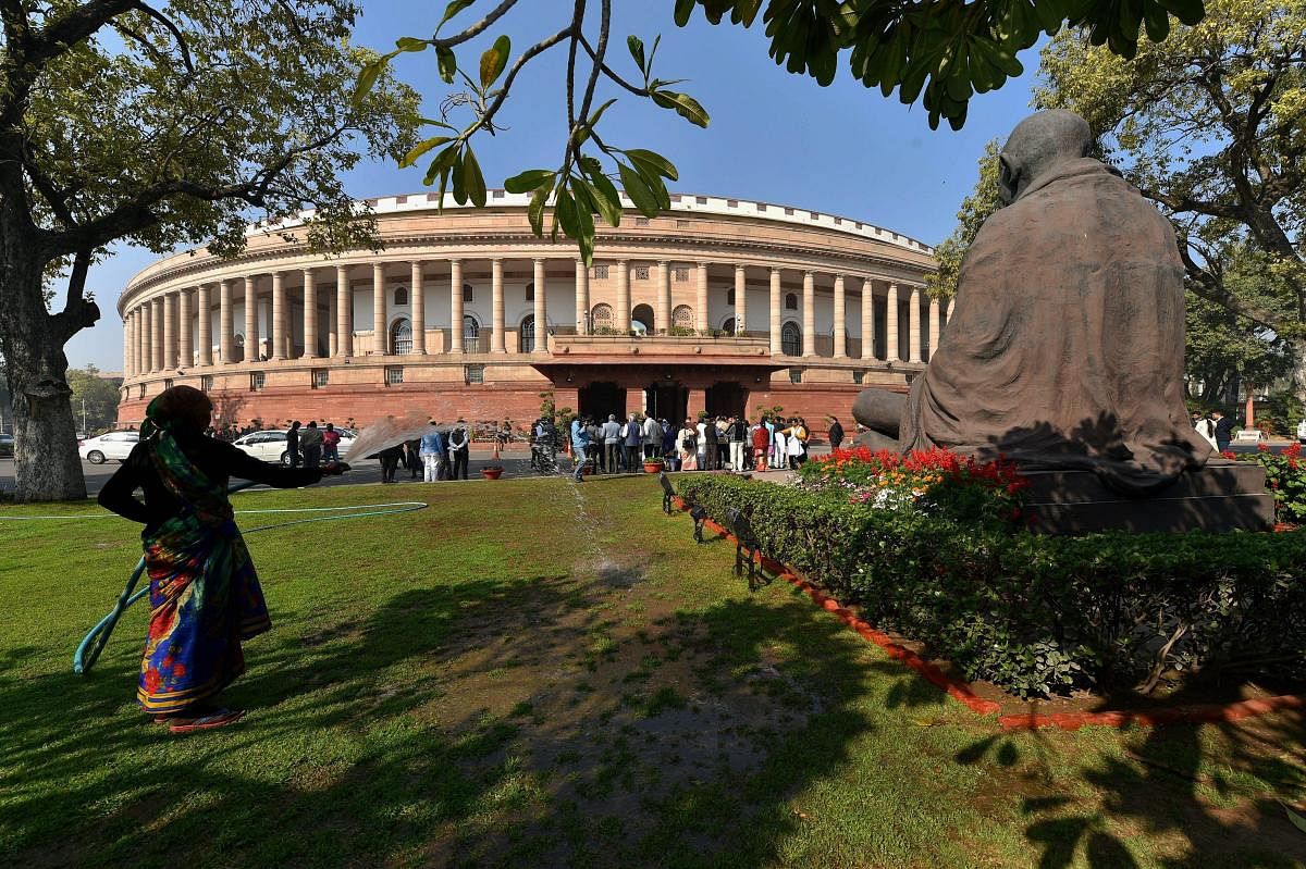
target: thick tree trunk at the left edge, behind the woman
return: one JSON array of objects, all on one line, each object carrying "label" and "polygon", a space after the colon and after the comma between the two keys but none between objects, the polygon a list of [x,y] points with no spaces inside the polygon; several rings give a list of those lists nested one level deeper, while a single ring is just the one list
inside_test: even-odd
[{"label": "thick tree trunk at the left edge, behind the woman", "polygon": [[68,358],[60,321],[46,311],[44,262],[17,245],[4,252],[5,300],[0,354],[13,395],[13,459],[18,501],[71,501],[86,497],[77,455]]}]

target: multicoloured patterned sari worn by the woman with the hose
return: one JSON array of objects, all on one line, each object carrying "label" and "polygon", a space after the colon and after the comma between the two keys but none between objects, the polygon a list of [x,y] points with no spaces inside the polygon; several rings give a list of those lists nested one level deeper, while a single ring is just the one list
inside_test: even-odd
[{"label": "multicoloured patterned sari worn by the woman with the hose", "polygon": [[141,658],[140,705],[155,715],[209,698],[244,672],[240,642],[272,628],[223,480],[185,455],[168,423],[141,425],[150,458],[182,511],[145,541],[150,630]]}]

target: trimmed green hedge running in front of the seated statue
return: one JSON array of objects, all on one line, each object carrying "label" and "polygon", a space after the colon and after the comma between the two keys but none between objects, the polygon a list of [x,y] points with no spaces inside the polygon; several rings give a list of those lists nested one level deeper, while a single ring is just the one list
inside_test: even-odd
[{"label": "trimmed green hedge running in front of the seated statue", "polygon": [[1306,678],[1306,532],[1036,535],[717,475],[677,481],[717,522],[863,618],[1021,697],[1169,671]]}]

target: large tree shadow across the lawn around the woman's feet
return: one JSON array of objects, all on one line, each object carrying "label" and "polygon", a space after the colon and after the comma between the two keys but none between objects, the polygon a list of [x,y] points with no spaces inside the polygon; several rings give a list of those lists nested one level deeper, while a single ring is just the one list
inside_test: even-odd
[{"label": "large tree shadow across the lawn around the woman's feet", "polygon": [[[627,591],[610,579],[411,588],[362,620],[274,630],[229,692],[247,720],[212,733],[128,711],[127,655],[5,680],[0,769],[27,787],[0,808],[0,843],[31,866],[773,865],[801,823],[786,795],[871,728],[848,688],[855,646],[750,599],[586,651],[614,629],[590,604]],[[777,642],[827,654],[748,678]],[[623,685],[644,647],[670,663]],[[705,688],[691,664],[747,676]]]}]

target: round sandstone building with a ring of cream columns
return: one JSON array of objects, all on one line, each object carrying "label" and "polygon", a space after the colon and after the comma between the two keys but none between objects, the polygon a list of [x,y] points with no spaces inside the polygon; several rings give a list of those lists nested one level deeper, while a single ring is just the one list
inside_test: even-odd
[{"label": "round sandstone building with a ring of cream columns", "polygon": [[[511,419],[541,393],[596,418],[780,406],[821,432],[863,386],[906,390],[946,311],[923,292],[932,249],[806,209],[673,194],[671,209],[575,243],[535,237],[529,197],[370,200],[380,253],[310,253],[251,227],[234,260],[162,258],[123,291],[119,421],[163,389],[209,393],[222,423],[385,415]],[[546,219],[551,219],[546,215]]]}]

